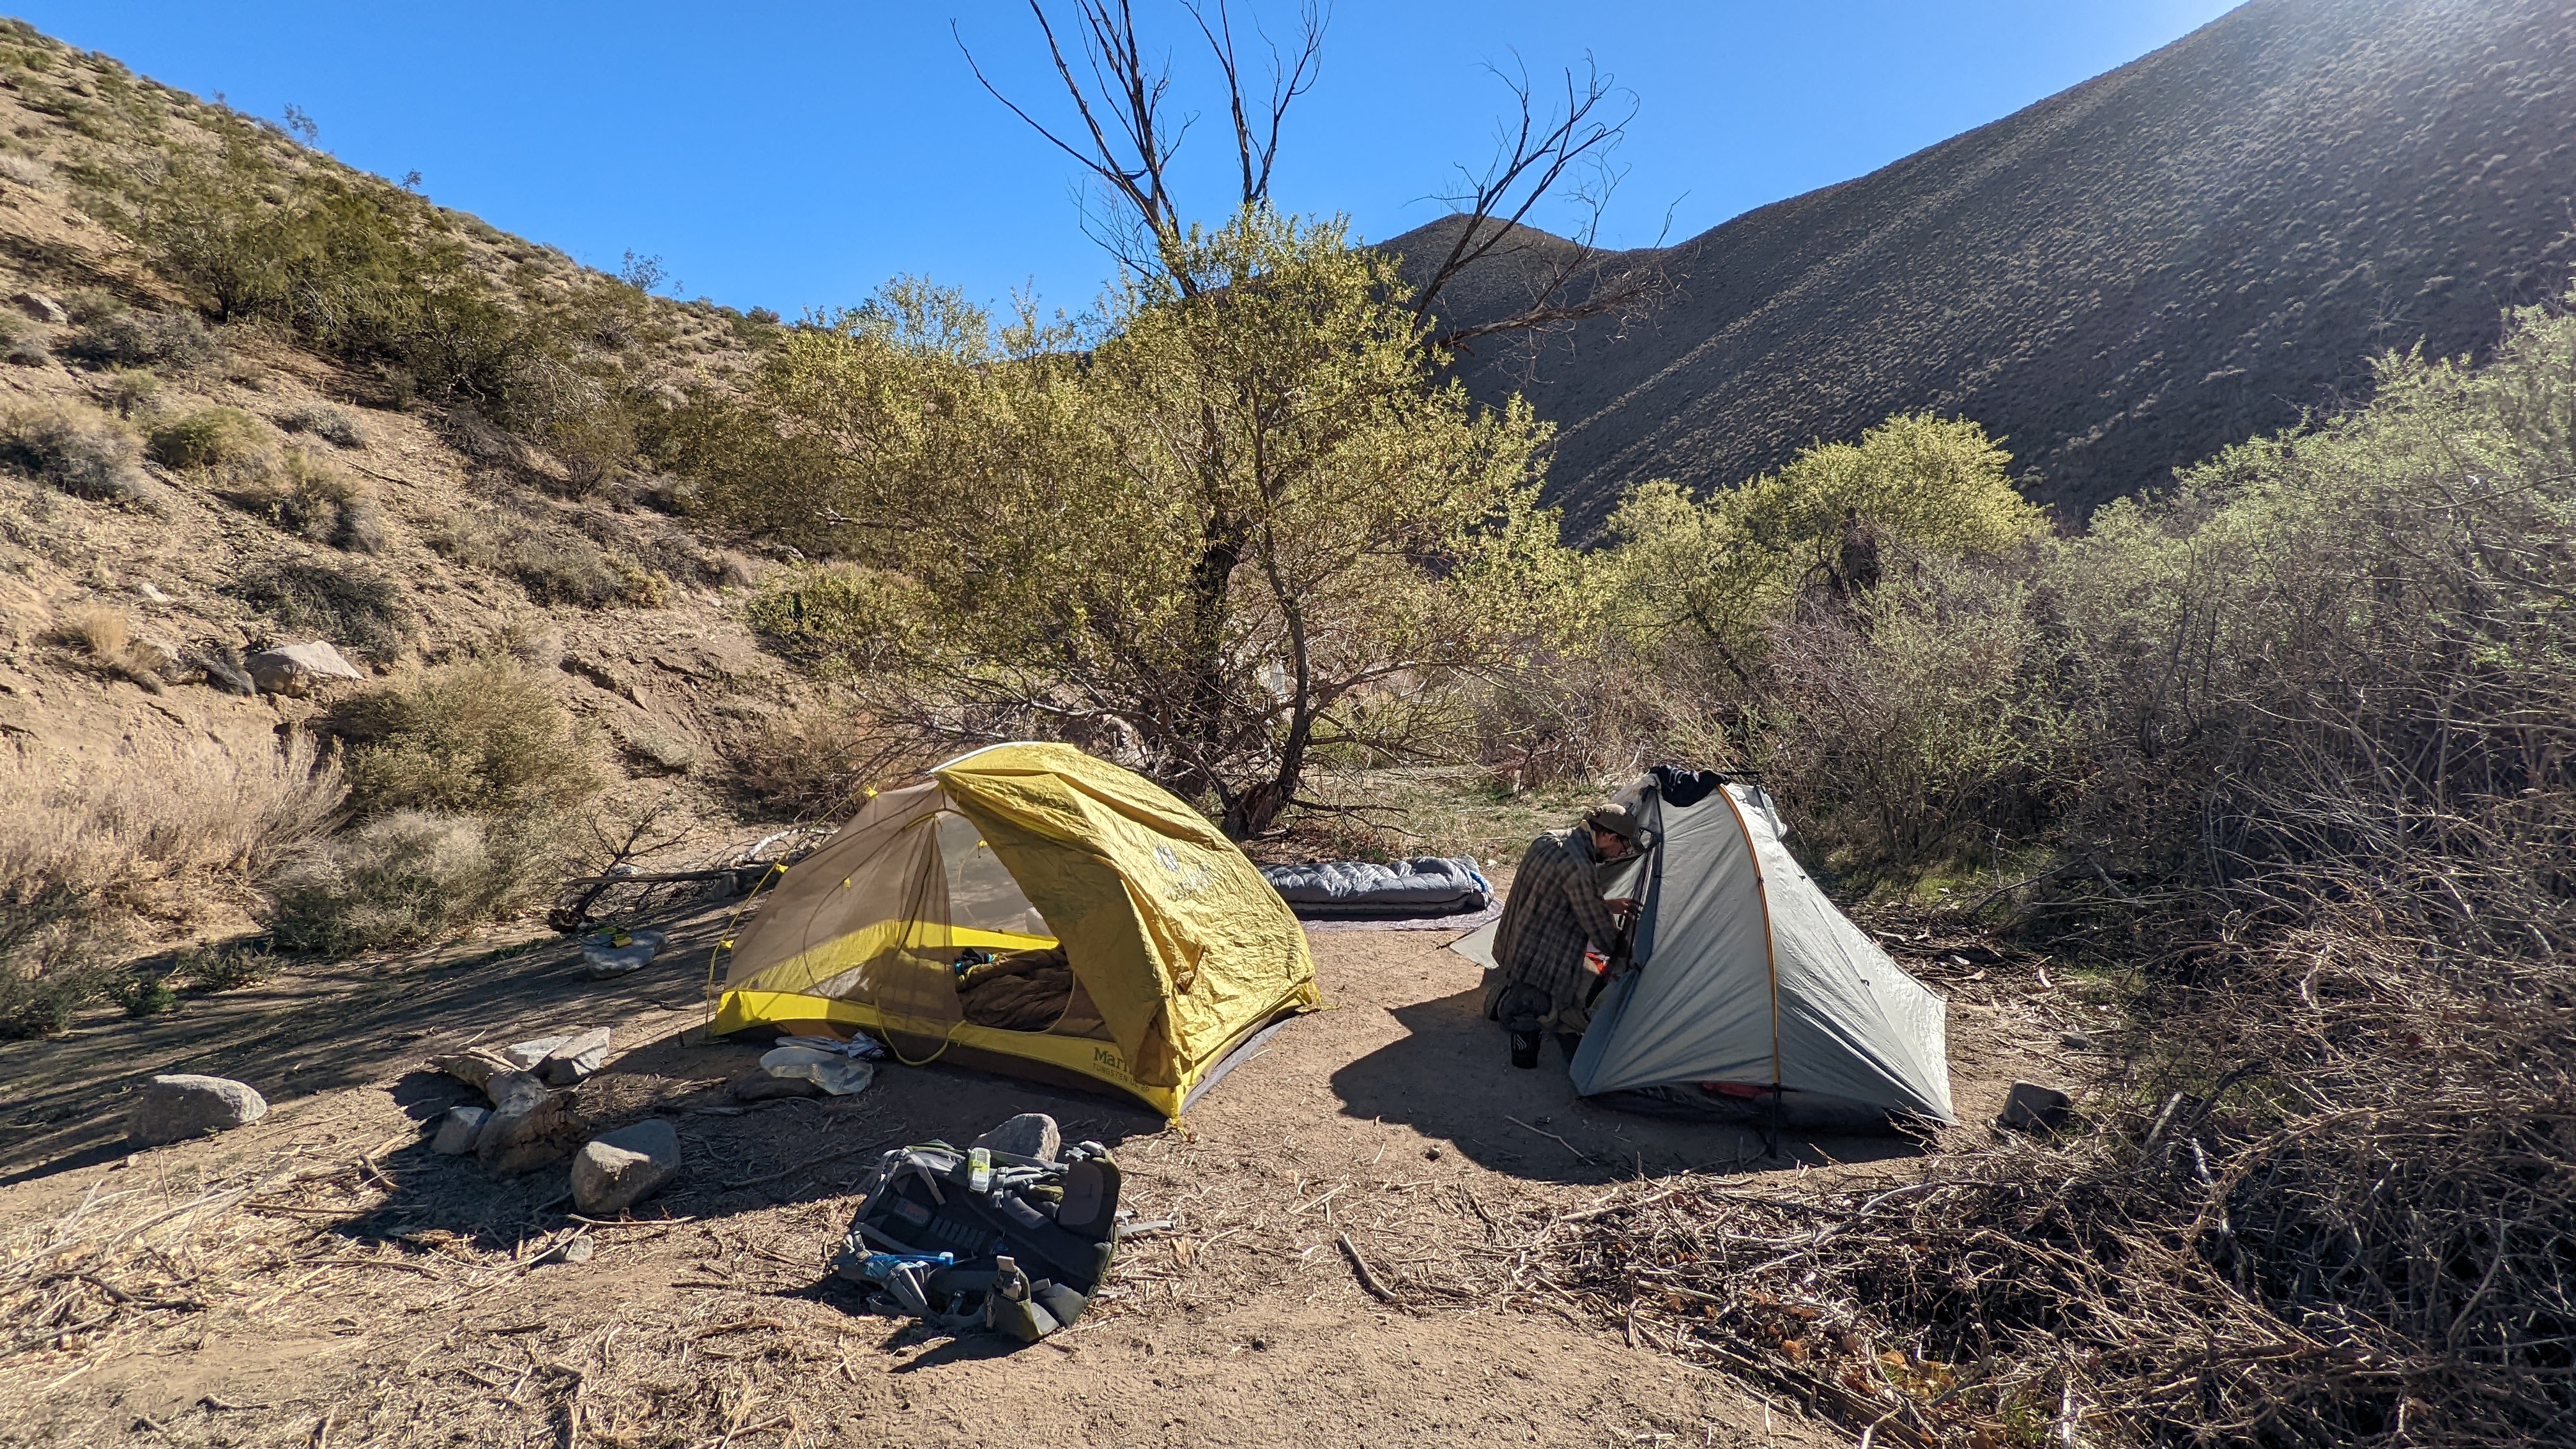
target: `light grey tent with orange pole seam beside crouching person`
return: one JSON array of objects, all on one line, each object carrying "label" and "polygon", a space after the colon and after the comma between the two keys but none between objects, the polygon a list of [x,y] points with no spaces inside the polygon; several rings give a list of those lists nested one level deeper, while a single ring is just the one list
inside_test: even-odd
[{"label": "light grey tent with orange pole seam beside crouching person", "polygon": [[[1649,848],[1636,969],[1602,990],[1574,1091],[1638,1106],[1739,1106],[1862,1127],[1950,1111],[1947,1003],[1909,977],[1780,843],[1759,789],[1659,768],[1633,786]],[[1492,928],[1458,951],[1494,964]],[[1757,1101],[1747,1101],[1759,1088]]]}]

